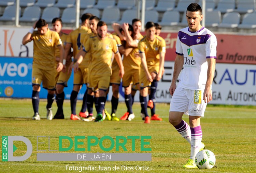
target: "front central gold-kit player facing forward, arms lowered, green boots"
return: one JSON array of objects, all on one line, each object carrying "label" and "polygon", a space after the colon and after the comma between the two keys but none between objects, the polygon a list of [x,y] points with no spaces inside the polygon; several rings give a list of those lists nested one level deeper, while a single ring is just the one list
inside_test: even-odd
[{"label": "front central gold-kit player facing forward, arms lowered, green boots", "polygon": [[[95,121],[102,121],[102,113],[105,106],[106,90],[110,84],[111,76],[111,59],[112,52],[115,54],[116,62],[120,68],[119,76],[123,77],[124,67],[120,53],[118,52],[117,43],[115,39],[107,36],[107,25],[103,21],[97,24],[97,36],[90,37],[83,48],[84,53],[79,57],[76,56],[77,62],[74,65],[74,71],[79,67],[86,52],[91,51],[90,62],[90,79],[88,88],[94,92],[99,90],[99,98],[97,103],[97,117]],[[96,96],[97,97],[97,96]]]}]

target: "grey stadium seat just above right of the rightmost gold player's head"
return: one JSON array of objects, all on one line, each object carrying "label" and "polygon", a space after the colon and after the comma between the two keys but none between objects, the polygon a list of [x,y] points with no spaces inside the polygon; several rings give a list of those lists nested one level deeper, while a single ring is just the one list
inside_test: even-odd
[{"label": "grey stadium seat just above right of the rightmost gold player's head", "polygon": [[178,11],[166,11],[163,13],[162,21],[159,22],[162,26],[174,26],[180,21],[180,13]]}]

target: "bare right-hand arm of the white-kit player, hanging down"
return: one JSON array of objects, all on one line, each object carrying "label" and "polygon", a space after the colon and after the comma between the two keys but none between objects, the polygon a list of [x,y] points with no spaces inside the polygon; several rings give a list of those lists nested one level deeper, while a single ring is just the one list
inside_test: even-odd
[{"label": "bare right-hand arm of the white-kit player, hanging down", "polygon": [[203,100],[205,103],[209,103],[212,100],[212,81],[215,72],[215,58],[207,58],[208,69],[207,69],[207,80],[203,91]]}]

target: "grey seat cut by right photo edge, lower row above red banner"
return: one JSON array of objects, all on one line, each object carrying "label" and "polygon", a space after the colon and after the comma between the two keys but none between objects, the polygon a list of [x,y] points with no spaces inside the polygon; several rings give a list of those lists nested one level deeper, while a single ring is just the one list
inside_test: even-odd
[{"label": "grey seat cut by right photo edge, lower row above red banner", "polygon": [[246,13],[242,23],[238,25],[239,29],[254,29],[256,28],[256,13]]}]

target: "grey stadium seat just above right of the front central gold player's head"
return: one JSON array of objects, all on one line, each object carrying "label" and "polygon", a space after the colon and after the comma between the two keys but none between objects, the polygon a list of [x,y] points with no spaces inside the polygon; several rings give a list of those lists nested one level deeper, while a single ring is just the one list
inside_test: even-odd
[{"label": "grey stadium seat just above right of the front central gold player's head", "polygon": [[101,20],[106,24],[112,24],[120,20],[120,10],[117,7],[104,8]]}]

